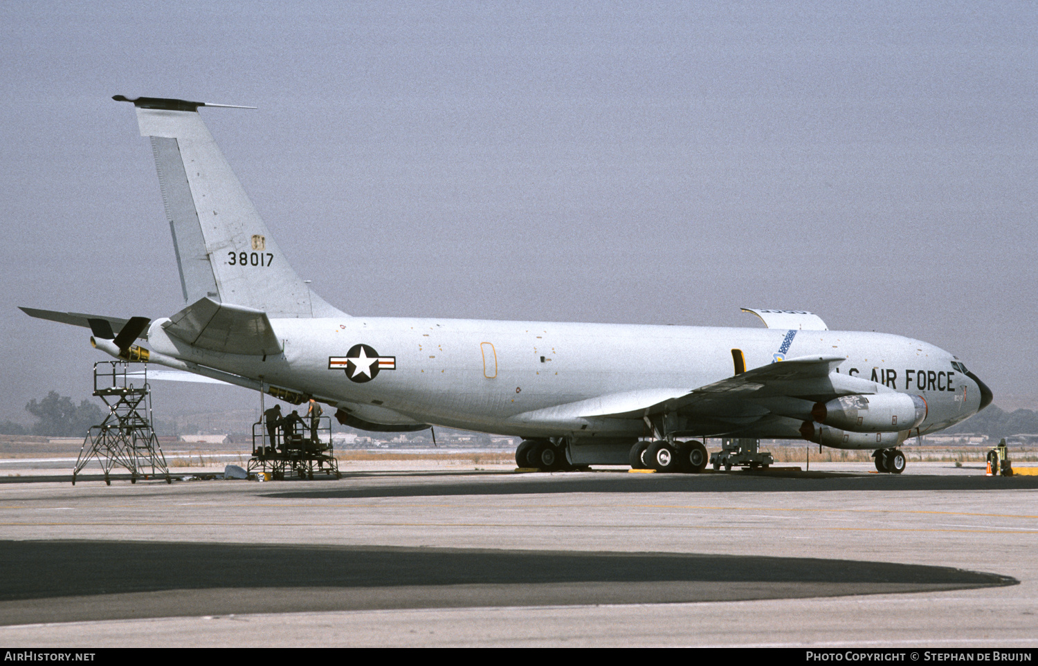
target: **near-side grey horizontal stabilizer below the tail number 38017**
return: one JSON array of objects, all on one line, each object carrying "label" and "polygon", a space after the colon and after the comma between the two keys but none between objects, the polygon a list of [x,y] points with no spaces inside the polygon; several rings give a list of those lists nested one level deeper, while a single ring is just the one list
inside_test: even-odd
[{"label": "near-side grey horizontal stabilizer below the tail number 38017", "polygon": [[223,354],[279,354],[281,343],[263,310],[217,303],[203,297],[162,325],[166,333],[188,344]]}]

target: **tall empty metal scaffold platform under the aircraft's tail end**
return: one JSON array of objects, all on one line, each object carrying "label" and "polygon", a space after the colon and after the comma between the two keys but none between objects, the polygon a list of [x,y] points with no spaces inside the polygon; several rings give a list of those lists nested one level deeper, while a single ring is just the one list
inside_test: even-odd
[{"label": "tall empty metal scaffold platform under the aircraft's tail end", "polygon": [[[130,472],[130,482],[140,477],[165,476],[172,482],[166,457],[152,428],[152,391],[147,384],[147,364],[143,372],[128,372],[127,361],[99,361],[93,364],[93,394],[108,407],[108,416],[90,427],[79,449],[72,472],[72,483],[87,463],[97,460],[112,484],[112,469],[118,465]],[[132,383],[139,382],[139,386]]]}]

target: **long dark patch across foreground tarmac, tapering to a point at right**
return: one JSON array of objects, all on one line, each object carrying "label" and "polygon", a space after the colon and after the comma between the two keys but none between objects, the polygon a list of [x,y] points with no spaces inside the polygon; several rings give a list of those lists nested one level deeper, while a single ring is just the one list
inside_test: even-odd
[{"label": "long dark patch across foreground tarmac, tapering to a point at right", "polygon": [[1018,583],[941,566],[793,557],[151,542],[0,542],[0,625],[745,601]]}]

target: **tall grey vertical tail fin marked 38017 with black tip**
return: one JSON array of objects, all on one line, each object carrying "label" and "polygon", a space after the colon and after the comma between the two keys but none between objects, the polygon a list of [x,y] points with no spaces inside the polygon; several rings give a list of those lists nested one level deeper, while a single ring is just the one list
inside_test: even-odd
[{"label": "tall grey vertical tail fin marked 38017 with black tip", "polygon": [[344,316],[292,270],[198,115],[212,105],[122,95],[152,141],[186,303],[211,299],[271,317]]}]

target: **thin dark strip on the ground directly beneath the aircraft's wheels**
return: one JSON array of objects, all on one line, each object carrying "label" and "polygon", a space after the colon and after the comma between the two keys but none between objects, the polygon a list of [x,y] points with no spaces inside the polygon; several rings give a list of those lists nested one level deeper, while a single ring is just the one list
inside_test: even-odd
[{"label": "thin dark strip on the ground directly beneath the aircraft's wheels", "polygon": [[[362,478],[356,475],[354,478]],[[368,477],[370,478],[370,477]],[[350,478],[326,487],[310,485],[265,494],[281,499],[357,499],[436,497],[443,495],[536,495],[541,493],[743,493],[831,491],[986,491],[1035,490],[1038,476],[947,476],[894,474],[518,474],[467,477],[425,476],[420,481],[394,477],[392,483],[351,485]]]}]

